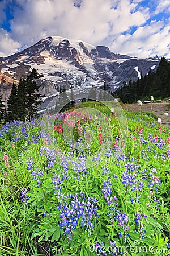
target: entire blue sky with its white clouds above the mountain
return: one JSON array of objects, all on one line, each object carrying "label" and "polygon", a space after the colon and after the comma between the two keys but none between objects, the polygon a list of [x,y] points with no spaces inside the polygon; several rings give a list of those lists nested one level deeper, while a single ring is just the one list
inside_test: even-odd
[{"label": "entire blue sky with its white clouds above the mountain", "polygon": [[46,36],[170,58],[170,0],[0,0],[0,56]]}]

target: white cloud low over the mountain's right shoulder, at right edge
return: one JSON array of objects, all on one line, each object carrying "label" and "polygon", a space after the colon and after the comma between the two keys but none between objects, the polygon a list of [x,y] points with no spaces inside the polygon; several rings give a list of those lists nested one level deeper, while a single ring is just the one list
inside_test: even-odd
[{"label": "white cloud low over the mountain's right shoulder, at right edge", "polygon": [[165,26],[163,22],[151,21],[147,26],[139,27],[133,35],[118,36],[110,48],[116,53],[126,53],[130,56],[166,55],[168,57],[166,53],[169,52],[169,31],[170,24]]}]

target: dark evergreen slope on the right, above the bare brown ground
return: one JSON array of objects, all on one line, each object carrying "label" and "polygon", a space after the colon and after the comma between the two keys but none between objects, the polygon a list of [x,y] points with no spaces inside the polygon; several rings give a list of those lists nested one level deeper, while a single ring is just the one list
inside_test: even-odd
[{"label": "dark evergreen slope on the right, above the bare brown ground", "polygon": [[150,96],[154,96],[155,100],[163,100],[170,97],[170,63],[162,57],[156,72],[150,71],[141,79],[132,81],[129,84],[124,81],[124,86],[113,93],[115,98],[121,98],[124,103],[133,103],[138,100],[150,100]]}]

